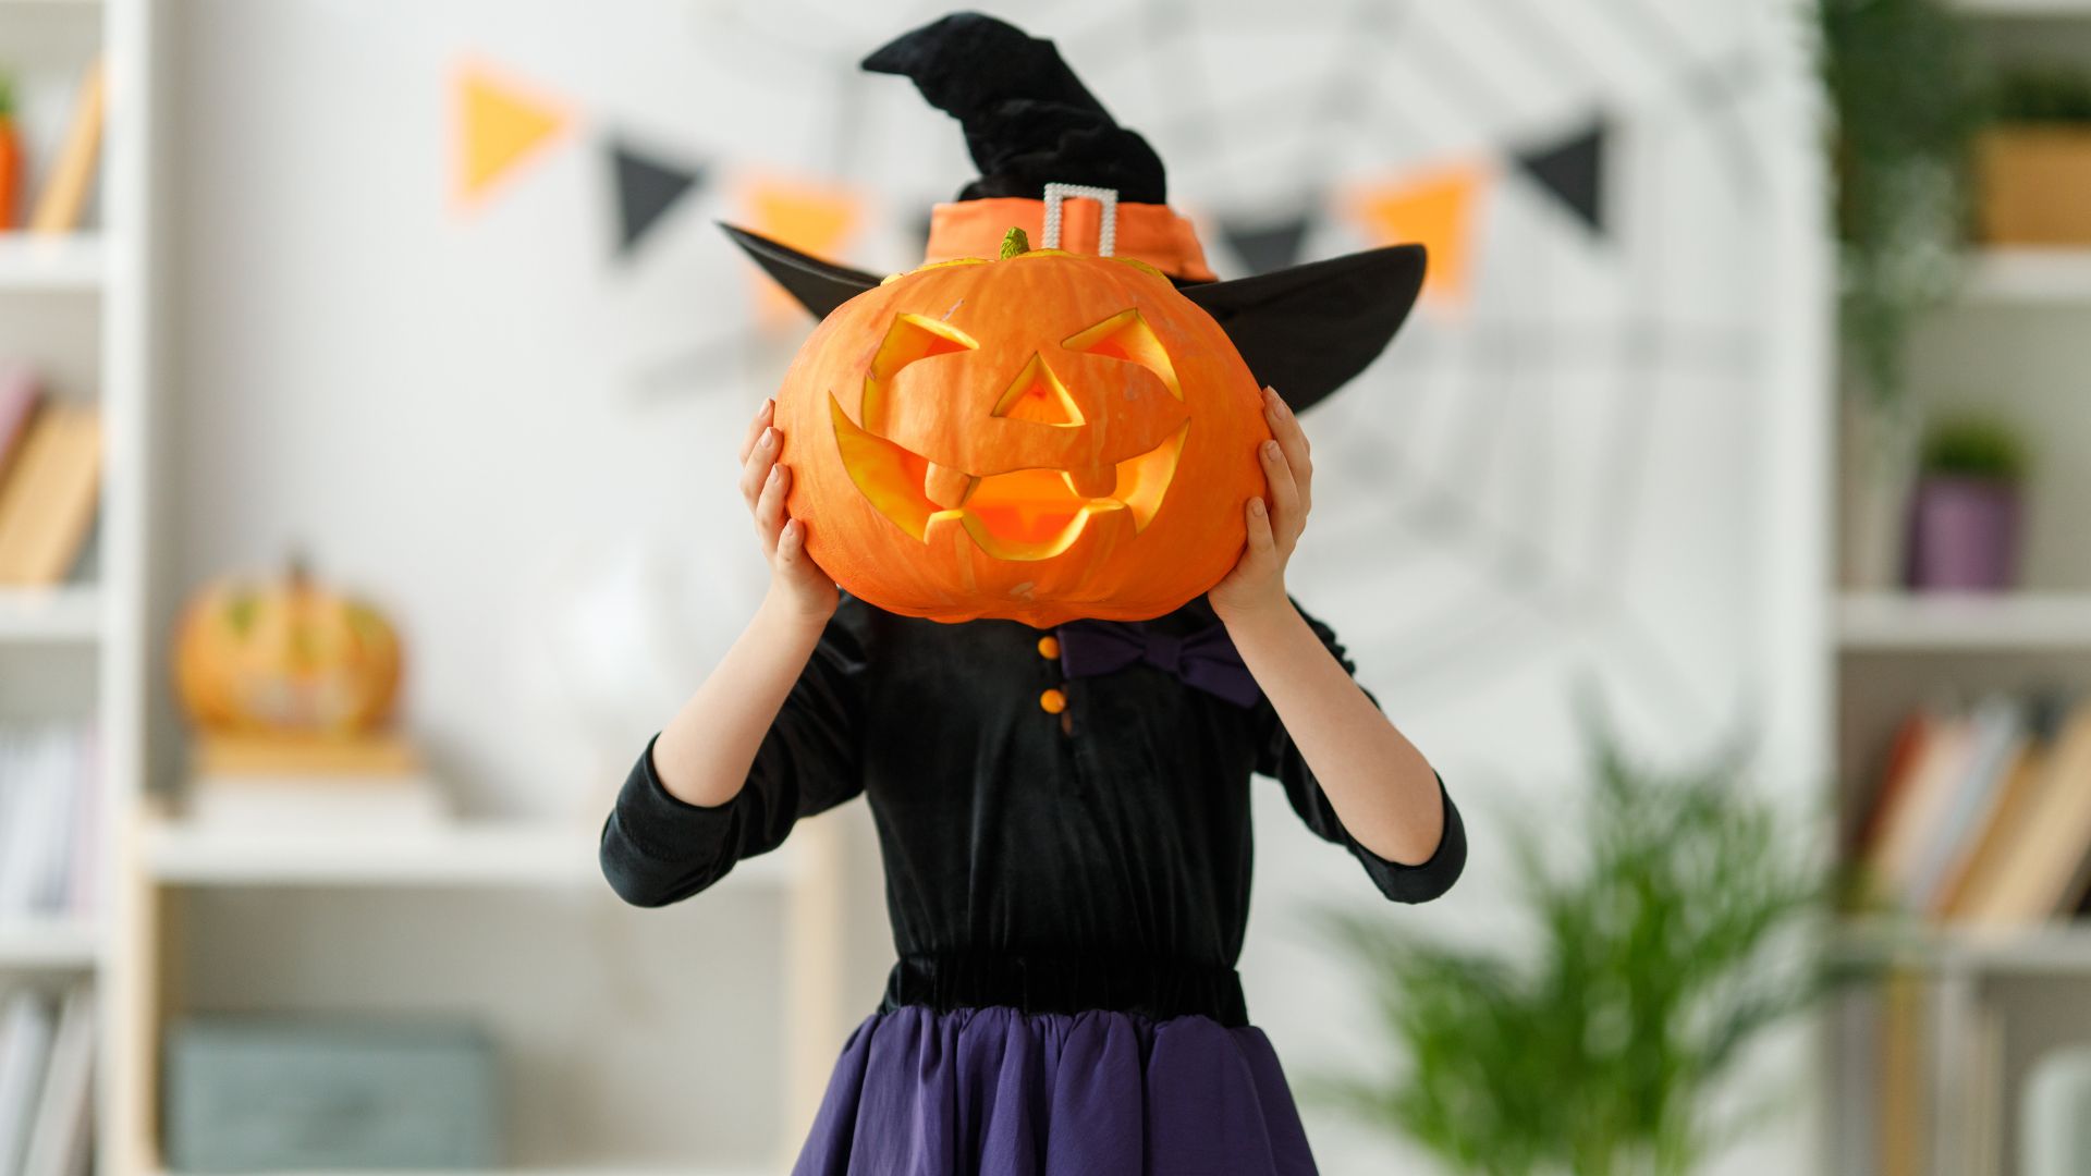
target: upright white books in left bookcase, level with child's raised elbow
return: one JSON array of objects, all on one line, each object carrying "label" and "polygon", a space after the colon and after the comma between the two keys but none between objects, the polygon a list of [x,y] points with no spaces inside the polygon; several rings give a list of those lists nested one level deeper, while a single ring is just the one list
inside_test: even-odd
[{"label": "upright white books in left bookcase, level with child's raised elbow", "polygon": [[98,760],[92,724],[0,726],[0,925],[94,910]]}]

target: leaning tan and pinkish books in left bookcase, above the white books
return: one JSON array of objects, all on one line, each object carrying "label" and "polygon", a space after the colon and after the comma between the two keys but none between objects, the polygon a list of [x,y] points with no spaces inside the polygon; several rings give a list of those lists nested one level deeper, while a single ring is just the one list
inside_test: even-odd
[{"label": "leaning tan and pinkish books in left bookcase, above the white books", "polygon": [[63,584],[100,498],[92,404],[44,398],[33,370],[0,364],[0,586]]}]

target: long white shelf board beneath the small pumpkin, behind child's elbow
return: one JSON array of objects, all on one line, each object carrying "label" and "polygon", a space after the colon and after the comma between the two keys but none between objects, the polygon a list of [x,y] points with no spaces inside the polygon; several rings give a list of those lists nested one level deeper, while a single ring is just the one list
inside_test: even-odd
[{"label": "long white shelf board beneath the small pumpkin, behind child's elbow", "polygon": [[[734,866],[721,885],[784,885],[797,858],[780,850]],[[596,831],[550,822],[458,822],[431,831],[220,831],[155,820],[144,870],[190,887],[598,887]]]}]

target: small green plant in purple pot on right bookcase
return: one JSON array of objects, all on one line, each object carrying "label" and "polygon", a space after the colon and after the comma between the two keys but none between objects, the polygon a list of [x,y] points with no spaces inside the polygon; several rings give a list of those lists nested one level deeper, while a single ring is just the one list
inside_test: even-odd
[{"label": "small green plant in purple pot on right bookcase", "polygon": [[1982,416],[1932,425],[1909,508],[1909,586],[2001,592],[2018,578],[2026,454],[2018,433]]}]

